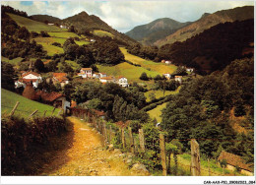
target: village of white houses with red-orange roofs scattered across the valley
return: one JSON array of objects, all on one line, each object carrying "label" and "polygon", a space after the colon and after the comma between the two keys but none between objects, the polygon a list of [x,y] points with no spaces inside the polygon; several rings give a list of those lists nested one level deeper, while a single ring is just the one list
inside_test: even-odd
[{"label": "village of white houses with red-orange roofs scattered across the valley", "polygon": [[[161,63],[170,65],[172,62],[169,60],[162,60]],[[186,72],[190,73],[189,76],[195,76],[193,73],[193,68],[186,68],[181,66],[182,69],[185,69]],[[45,75],[45,74],[44,74]],[[67,73],[49,73],[49,78],[45,79],[46,83],[52,82],[53,85],[59,85],[62,89],[65,85],[70,84]],[[174,80],[180,85],[182,84],[182,76],[171,75],[169,73],[162,74],[167,81]],[[81,78],[83,81],[92,81],[100,82],[102,85],[106,83],[117,84],[122,88],[128,88],[130,84],[128,79],[122,76],[115,78],[114,76],[108,76],[106,73],[94,73],[93,68],[81,68],[80,73],[77,73],[77,77]],[[15,89],[24,88],[22,92],[23,96],[30,98],[32,100],[38,100],[51,104],[56,108],[62,108],[65,112],[70,107],[77,106],[77,102],[74,100],[68,101],[66,96],[60,92],[45,92],[45,91],[36,91],[38,85],[42,83],[42,77],[39,73],[33,72],[33,64],[30,63],[29,71],[21,71],[19,80],[15,82]]]}]

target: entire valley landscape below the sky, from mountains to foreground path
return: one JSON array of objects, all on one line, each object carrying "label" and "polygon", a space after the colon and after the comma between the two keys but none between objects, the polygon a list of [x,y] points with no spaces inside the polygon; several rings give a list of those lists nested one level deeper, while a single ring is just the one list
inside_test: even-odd
[{"label": "entire valley landscape below the sky, from mountains to foreground path", "polygon": [[253,176],[253,8],[124,34],[2,5],[2,175]]}]

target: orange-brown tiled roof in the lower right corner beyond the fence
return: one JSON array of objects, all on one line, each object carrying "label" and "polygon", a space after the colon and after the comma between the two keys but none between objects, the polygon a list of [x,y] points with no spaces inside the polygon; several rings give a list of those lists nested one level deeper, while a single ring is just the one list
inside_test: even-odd
[{"label": "orange-brown tiled roof in the lower right corner beyond the fence", "polygon": [[246,169],[248,171],[252,171],[252,168],[250,167],[250,164],[244,163],[244,160],[241,158],[241,156],[236,154],[230,154],[226,152],[222,152],[218,158],[218,160],[225,159],[227,164],[230,164],[232,166],[238,165],[242,169]]}]

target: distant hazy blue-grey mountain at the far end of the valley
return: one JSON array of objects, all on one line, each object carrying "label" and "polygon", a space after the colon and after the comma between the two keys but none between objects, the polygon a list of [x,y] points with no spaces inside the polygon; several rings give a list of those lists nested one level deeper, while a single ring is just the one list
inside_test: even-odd
[{"label": "distant hazy blue-grey mountain at the far end of the valley", "polygon": [[180,23],[169,18],[155,20],[149,24],[135,27],[125,34],[140,41],[143,44],[151,45],[155,41],[191,24]]}]

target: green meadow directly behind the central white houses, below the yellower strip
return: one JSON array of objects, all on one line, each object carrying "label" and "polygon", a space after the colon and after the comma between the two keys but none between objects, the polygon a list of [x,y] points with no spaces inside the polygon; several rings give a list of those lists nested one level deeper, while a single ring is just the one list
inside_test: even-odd
[{"label": "green meadow directly behind the central white houses, below the yellower strip", "polygon": [[139,78],[143,72],[147,73],[148,76],[155,77],[159,75],[158,72],[155,71],[148,71],[142,67],[136,67],[126,62],[115,66],[103,66],[103,65],[96,65],[99,72],[104,72],[108,76],[112,75],[115,77],[124,76],[130,82],[142,82]]}]

